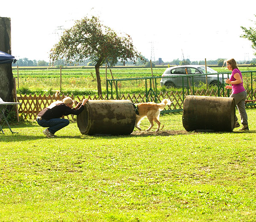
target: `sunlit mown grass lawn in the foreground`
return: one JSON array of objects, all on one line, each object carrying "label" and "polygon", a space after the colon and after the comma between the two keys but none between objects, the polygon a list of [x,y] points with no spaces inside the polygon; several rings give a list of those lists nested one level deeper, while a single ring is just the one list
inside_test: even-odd
[{"label": "sunlit mown grass lawn in the foreground", "polygon": [[18,134],[4,128],[0,221],[256,221],[247,114],[248,132],[186,132],[181,115],[160,117],[158,134],[87,136],[74,122],[48,139],[32,121],[12,125]]}]

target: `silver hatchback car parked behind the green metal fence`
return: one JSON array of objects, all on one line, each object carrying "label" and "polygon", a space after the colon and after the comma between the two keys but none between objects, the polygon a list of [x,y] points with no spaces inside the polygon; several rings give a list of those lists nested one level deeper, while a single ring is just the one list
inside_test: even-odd
[{"label": "silver hatchback car parked behind the green metal fence", "polygon": [[[183,84],[186,87],[188,85],[188,78],[185,76],[186,75],[186,69],[187,69],[187,74],[188,75],[193,75],[195,74],[194,77],[190,76],[189,77],[189,82],[192,85],[194,83],[195,86],[198,86],[199,83],[206,83],[206,76],[201,75],[198,76],[197,74],[205,74],[205,66],[204,65],[178,65],[178,66],[173,66],[171,68],[167,68],[166,71],[164,71],[162,77],[160,80],[161,86],[165,85],[167,88],[170,87],[182,87]],[[213,70],[212,68],[207,66],[207,74],[213,74],[213,73],[218,73],[217,71]],[[171,76],[176,76],[176,75],[184,75],[184,77],[171,77]],[[167,78],[167,77],[171,78]],[[224,79],[227,78],[227,74],[224,74]],[[183,84],[182,84],[183,80]],[[209,85],[222,85],[222,75],[219,76],[218,79],[218,74],[215,75],[207,75],[207,84]]]}]

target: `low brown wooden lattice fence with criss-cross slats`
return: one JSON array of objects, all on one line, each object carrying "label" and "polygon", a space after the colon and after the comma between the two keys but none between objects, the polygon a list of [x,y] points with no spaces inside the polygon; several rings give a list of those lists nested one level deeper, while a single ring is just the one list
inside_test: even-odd
[{"label": "low brown wooden lattice fence with criss-cross slats", "polygon": [[[218,90],[215,89],[202,89],[197,90],[196,92],[194,92],[194,95],[197,96],[215,96],[217,97],[218,94],[220,94],[222,97],[228,97],[228,91],[221,89],[221,91],[218,92]],[[253,98],[252,98],[252,93],[251,91],[247,90],[247,94],[248,94],[248,99],[256,99],[256,90],[253,91]],[[171,92],[160,92],[160,94],[157,97],[150,97],[147,98],[146,94],[122,94],[121,96],[116,96],[113,99],[114,100],[131,100],[131,102],[134,103],[138,103],[138,102],[147,102],[147,101],[155,101],[155,102],[161,102],[163,99],[167,99],[169,98],[171,101],[173,101],[172,105],[169,107],[169,109],[172,110],[178,110],[178,109],[182,109],[183,108],[183,100],[185,99],[185,97],[187,95],[192,95],[191,93],[189,93],[189,91],[185,91],[183,94],[183,91],[179,92],[179,91],[171,91]],[[39,94],[38,96],[35,95],[20,95],[17,96],[17,102],[21,102],[21,105],[18,107],[18,112],[19,114],[22,114],[24,119],[30,119],[30,120],[35,120],[38,113],[43,110],[44,108],[46,108],[47,106],[49,106],[52,102],[55,102],[56,100],[62,100],[64,97],[66,96],[70,96],[73,100],[76,100],[78,102],[80,102],[81,100],[83,100],[85,97],[79,97],[79,96],[74,96],[72,95],[60,95],[58,94],[57,96],[55,94],[53,95],[41,95]],[[250,98],[249,98],[250,96]],[[107,95],[105,95],[104,97],[102,95],[97,96],[88,96],[87,97],[88,100],[107,100],[108,97]],[[74,119],[74,117],[72,115],[67,117],[68,119],[72,118]]]}]

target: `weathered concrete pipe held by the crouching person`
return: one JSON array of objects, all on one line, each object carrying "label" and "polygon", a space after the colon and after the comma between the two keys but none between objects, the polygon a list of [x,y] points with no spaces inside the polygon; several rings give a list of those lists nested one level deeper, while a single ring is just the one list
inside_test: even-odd
[{"label": "weathered concrete pipe held by the crouching person", "polygon": [[135,109],[130,100],[88,100],[77,116],[81,134],[131,134],[135,126]]}]

